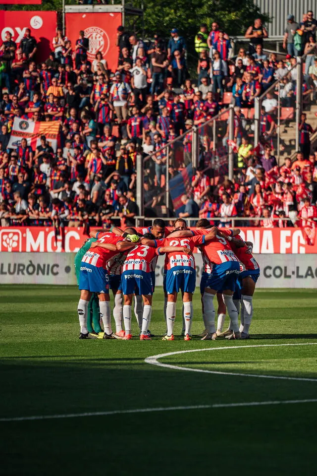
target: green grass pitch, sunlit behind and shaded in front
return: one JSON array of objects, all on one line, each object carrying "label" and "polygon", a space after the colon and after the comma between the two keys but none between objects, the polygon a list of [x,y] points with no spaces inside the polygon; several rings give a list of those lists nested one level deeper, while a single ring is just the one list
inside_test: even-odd
[{"label": "green grass pitch, sunlit behind and shaded in front", "polygon": [[[230,342],[195,337],[199,292],[193,340],[162,342],[161,289],[151,342],[80,341],[78,298],[75,287],[1,286],[0,418],[317,399],[317,346],[273,347],[317,343],[316,290],[257,291],[252,339]],[[209,372],[144,362],[210,348],[225,349],[159,360]],[[0,421],[0,475],[311,475],[316,423],[316,402]]]}]

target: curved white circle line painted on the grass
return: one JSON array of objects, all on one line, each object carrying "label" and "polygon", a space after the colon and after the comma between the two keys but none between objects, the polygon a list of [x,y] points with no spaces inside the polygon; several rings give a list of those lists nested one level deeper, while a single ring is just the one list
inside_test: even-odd
[{"label": "curved white circle line painted on the grass", "polygon": [[272,378],[278,380],[297,380],[297,381],[304,381],[304,382],[317,382],[316,378],[304,378],[304,377],[279,377],[277,375],[258,375],[254,373],[237,373],[237,372],[220,372],[216,370],[204,370],[201,368],[191,368],[191,367],[183,367],[181,365],[172,365],[169,363],[161,363],[159,362],[159,358],[162,357],[169,357],[175,356],[177,354],[188,354],[190,352],[205,352],[205,351],[223,351],[229,349],[246,349],[246,348],[253,348],[253,347],[291,347],[291,346],[316,346],[317,342],[306,342],[303,344],[261,344],[255,346],[232,346],[232,347],[211,347],[208,349],[190,349],[187,351],[176,351],[176,352],[168,352],[166,354],[158,354],[157,356],[151,356],[144,359],[145,363],[149,363],[151,365],[158,365],[159,367],[166,367],[172,368],[174,370],[185,370],[188,372],[201,372],[201,373],[212,373],[216,375],[233,375],[235,377],[256,377],[256,378]]}]

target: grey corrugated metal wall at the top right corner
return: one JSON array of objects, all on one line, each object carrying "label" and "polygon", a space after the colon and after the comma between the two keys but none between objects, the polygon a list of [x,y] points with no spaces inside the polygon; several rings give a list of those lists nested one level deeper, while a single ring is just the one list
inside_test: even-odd
[{"label": "grey corrugated metal wall at the top right corner", "polygon": [[294,15],[296,21],[302,20],[303,13],[313,10],[314,18],[317,16],[317,0],[254,0],[262,13],[267,13],[272,18],[268,25],[269,36],[283,36],[286,17],[289,13]]}]

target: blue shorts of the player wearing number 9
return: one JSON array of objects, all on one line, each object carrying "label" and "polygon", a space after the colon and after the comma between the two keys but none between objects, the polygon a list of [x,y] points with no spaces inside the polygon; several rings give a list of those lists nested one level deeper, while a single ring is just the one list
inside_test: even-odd
[{"label": "blue shorts of the player wearing number 9", "polygon": [[211,277],[207,287],[216,291],[234,291],[236,281],[240,274],[240,264],[238,261],[227,261],[226,263],[214,264]]}]

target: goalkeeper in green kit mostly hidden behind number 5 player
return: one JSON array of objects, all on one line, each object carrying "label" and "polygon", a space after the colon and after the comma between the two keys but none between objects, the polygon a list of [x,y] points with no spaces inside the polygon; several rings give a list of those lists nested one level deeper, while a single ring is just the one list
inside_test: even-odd
[{"label": "goalkeeper in green kit mostly hidden behind number 5 player", "polygon": [[[82,245],[82,247],[77,251],[75,255],[75,272],[76,272],[76,279],[77,279],[77,286],[79,286],[79,276],[80,276],[80,266],[81,260],[83,259],[84,254],[89,250],[91,244],[97,241],[97,238],[88,238]],[[94,329],[92,327],[92,323],[94,323]],[[92,297],[90,298],[88,304],[88,313],[87,313],[87,329],[89,334],[92,337],[104,336],[103,330],[100,327],[100,312],[99,312],[99,299],[96,293],[92,293]]]}]

